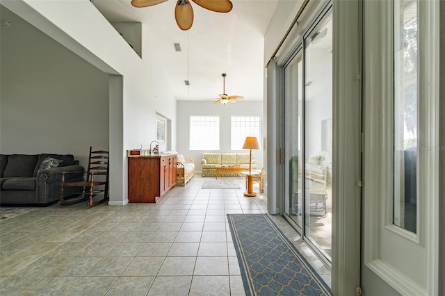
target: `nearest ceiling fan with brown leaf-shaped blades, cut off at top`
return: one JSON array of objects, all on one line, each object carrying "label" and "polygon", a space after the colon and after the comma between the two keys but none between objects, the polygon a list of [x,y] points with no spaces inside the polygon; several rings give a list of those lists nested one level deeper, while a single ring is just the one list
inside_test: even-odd
[{"label": "nearest ceiling fan with brown leaf-shaped blades, cut off at top", "polygon": [[[131,0],[134,7],[147,7],[163,3],[167,0]],[[193,24],[193,8],[190,2],[194,2],[202,8],[216,13],[228,13],[233,4],[230,0],[178,0],[175,6],[175,19],[181,30],[188,30]]]}]

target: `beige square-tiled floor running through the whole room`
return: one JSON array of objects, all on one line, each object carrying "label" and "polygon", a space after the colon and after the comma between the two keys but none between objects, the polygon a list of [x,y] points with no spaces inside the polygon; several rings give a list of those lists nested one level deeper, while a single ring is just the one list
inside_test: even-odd
[{"label": "beige square-tiled floor running through the whole room", "polygon": [[[245,295],[226,214],[267,213],[266,200],[244,197],[243,178],[234,178],[241,189],[201,189],[208,179],[157,204],[55,204],[0,220],[0,295]],[[297,233],[273,219],[330,284]]]}]

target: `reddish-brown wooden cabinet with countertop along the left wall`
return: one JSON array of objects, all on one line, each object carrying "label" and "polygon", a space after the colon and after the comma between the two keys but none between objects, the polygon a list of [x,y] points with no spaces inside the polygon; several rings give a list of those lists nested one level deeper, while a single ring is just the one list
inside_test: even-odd
[{"label": "reddish-brown wooden cabinet with countertop along the left wall", "polygon": [[157,202],[176,185],[177,154],[128,156],[129,202]]}]

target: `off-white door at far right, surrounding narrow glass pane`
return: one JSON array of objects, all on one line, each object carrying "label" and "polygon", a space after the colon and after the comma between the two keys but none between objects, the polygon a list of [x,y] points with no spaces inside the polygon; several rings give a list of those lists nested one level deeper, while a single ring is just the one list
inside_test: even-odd
[{"label": "off-white door at far right, surrounding narrow glass pane", "polygon": [[[439,1],[419,1],[418,231],[393,224],[392,1],[364,1],[364,264],[402,295],[438,295]],[[363,283],[366,285],[366,283]]]}]

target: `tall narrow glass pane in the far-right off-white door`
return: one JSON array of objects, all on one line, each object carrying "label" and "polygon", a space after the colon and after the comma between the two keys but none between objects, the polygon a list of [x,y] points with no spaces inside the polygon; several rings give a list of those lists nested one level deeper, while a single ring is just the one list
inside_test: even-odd
[{"label": "tall narrow glass pane in the far-right off-white door", "polygon": [[416,233],[417,1],[394,3],[394,224]]}]

